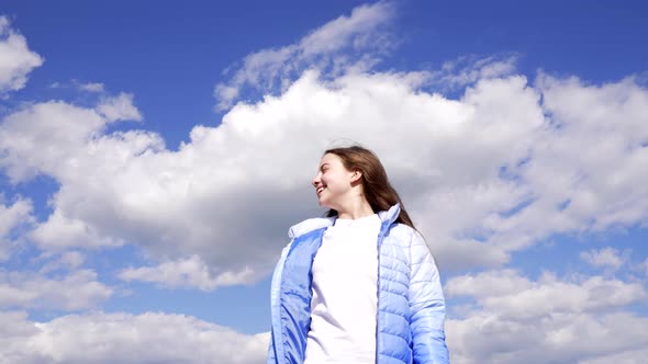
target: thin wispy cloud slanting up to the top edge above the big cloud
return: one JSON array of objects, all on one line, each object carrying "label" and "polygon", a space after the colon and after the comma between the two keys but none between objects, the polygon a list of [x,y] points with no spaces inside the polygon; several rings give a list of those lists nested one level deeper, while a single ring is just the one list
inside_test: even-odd
[{"label": "thin wispy cloud slanting up to the top edge above the big cloud", "polygon": [[326,69],[339,76],[370,68],[393,47],[390,33],[383,30],[394,11],[388,1],[360,5],[349,16],[339,16],[294,44],[248,55],[228,82],[216,84],[219,109],[232,106],[245,87],[261,92],[283,91],[292,83],[289,80],[308,69]]}]

